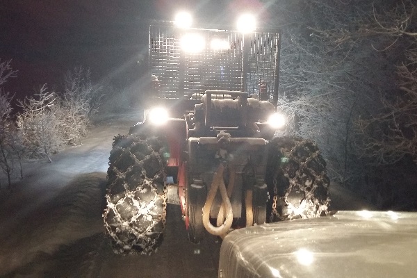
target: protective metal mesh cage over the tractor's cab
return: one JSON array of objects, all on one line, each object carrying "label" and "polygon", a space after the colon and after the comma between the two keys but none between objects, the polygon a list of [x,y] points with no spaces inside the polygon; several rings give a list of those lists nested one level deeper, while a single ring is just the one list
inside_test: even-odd
[{"label": "protective metal mesh cage over the tractor's cab", "polygon": [[[204,39],[199,52],[183,50],[186,33]],[[272,99],[277,86],[279,34],[150,26],[149,58],[159,97],[199,98],[206,90],[247,91],[259,97],[259,88]],[[192,43],[192,42],[191,42]]]}]

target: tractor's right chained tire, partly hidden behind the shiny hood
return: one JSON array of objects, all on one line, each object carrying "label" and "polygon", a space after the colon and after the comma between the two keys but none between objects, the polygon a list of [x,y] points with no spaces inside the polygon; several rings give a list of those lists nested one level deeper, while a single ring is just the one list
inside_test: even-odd
[{"label": "tractor's right chained tire, partly hidden behind the shiny hood", "polygon": [[[284,136],[273,138],[269,146],[266,182],[270,222],[327,214],[330,180],[317,145],[310,140]],[[276,210],[272,208],[274,204]]]}]

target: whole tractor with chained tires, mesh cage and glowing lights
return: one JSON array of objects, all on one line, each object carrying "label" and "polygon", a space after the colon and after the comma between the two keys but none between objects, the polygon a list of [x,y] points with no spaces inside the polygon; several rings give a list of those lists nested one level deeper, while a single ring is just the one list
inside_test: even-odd
[{"label": "whole tractor with chained tires, mesh cage and glowing lights", "polygon": [[279,131],[279,43],[272,31],[149,27],[149,111],[109,158],[104,222],[115,252],[154,252],[171,199],[195,243],[327,213],[318,147]]}]

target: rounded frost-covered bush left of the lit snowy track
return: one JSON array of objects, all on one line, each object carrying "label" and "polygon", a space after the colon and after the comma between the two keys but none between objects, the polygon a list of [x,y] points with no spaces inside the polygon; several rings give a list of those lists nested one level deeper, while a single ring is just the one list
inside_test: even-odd
[{"label": "rounded frost-covered bush left of the lit snowy track", "polygon": [[56,93],[49,92],[43,85],[35,97],[20,101],[20,107],[23,112],[17,115],[17,127],[28,158],[47,157],[52,162],[51,155],[59,152],[64,143],[57,117],[60,108],[56,105]]}]

